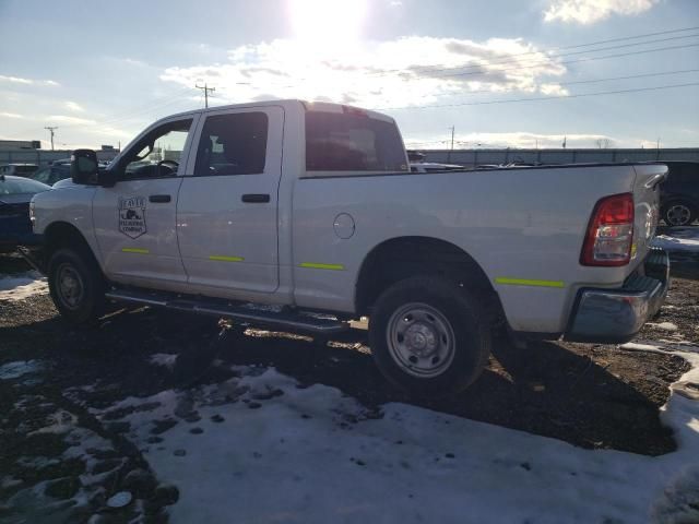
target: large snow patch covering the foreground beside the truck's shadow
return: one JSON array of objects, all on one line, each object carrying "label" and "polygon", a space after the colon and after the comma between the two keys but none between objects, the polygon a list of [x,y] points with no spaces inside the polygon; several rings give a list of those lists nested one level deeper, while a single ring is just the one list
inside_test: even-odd
[{"label": "large snow patch covering the foreground beside the truck's shadow", "polygon": [[[686,346],[623,347],[682,355],[692,365],[683,380],[699,381],[699,354]],[[308,524],[387,515],[405,524],[647,522],[651,513],[671,522],[680,491],[696,487],[684,468],[699,454],[699,403],[674,392],[662,417],[679,449],[649,457],[399,403],[370,412],[340,390],[305,388],[274,368],[235,370],[239,378],[220,384],[117,405],[159,403],[123,420],[157,476],[180,489],[174,524],[227,523],[232,514]],[[200,418],[179,417],[183,404]],[[177,424],[152,444],[155,418]]]}]

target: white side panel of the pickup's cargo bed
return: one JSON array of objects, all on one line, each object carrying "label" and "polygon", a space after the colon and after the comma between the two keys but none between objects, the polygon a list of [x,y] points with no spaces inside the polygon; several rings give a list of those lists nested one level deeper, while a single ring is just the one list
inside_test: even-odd
[{"label": "white side panel of the pickup's cargo bed", "polygon": [[[638,263],[579,263],[597,200],[632,191],[633,182],[631,166],[303,178],[294,186],[295,300],[353,311],[366,254],[391,238],[424,236],[460,247],[481,265],[512,329],[561,332],[580,287],[619,286]],[[334,231],[341,213],[354,218],[350,239]],[[342,270],[300,266],[308,263]],[[502,285],[496,278],[564,287]]]}]

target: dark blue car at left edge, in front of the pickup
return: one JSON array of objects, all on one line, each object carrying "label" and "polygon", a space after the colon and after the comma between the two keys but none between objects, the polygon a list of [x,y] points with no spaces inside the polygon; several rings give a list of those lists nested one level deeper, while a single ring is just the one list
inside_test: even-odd
[{"label": "dark blue car at left edge, in front of the pickup", "polygon": [[32,196],[51,189],[36,180],[0,175],[0,252],[13,251],[17,245],[38,241],[29,222]]}]

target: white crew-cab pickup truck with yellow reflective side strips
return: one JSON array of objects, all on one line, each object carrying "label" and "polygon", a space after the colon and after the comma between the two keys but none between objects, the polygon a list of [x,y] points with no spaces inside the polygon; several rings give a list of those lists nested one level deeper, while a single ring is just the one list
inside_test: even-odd
[{"label": "white crew-cab pickup truck with yellow reflective side strips", "polygon": [[106,170],[74,152],[73,183],[32,202],[40,250],[23,251],[71,322],[111,300],[323,338],[366,315],[388,379],[447,394],[478,376],[498,319],[518,341],[612,343],[659,311],[668,261],[649,242],[665,175],[412,174],[387,116],[216,107],[155,122]]}]

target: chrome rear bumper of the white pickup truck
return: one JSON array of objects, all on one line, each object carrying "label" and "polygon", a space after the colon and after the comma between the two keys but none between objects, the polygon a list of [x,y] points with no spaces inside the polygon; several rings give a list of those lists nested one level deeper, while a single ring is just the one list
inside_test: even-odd
[{"label": "chrome rear bumper of the white pickup truck", "polygon": [[670,259],[653,249],[640,271],[618,289],[578,291],[566,341],[621,344],[631,340],[660,310],[670,287]]}]

